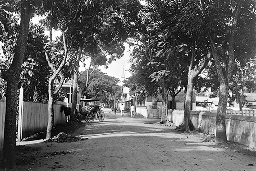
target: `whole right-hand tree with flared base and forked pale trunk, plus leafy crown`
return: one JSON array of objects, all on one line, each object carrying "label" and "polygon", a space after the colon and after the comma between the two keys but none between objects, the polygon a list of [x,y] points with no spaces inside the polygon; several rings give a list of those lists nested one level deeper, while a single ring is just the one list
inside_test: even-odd
[{"label": "whole right-hand tree with flared base and forked pale trunk, plus leafy crown", "polygon": [[[194,126],[190,120],[193,83],[195,77],[204,69],[211,56],[209,46],[207,46],[208,43],[205,39],[202,39],[205,36],[203,30],[205,25],[199,18],[201,16],[200,11],[194,1],[167,2],[153,0],[150,1],[150,7],[154,9],[154,12],[150,13],[150,17],[154,21],[154,27],[150,28],[150,31],[153,32],[150,38],[154,39],[154,43],[149,43],[152,49],[148,51],[156,54],[157,59],[154,59],[154,61],[150,59],[150,63],[157,64],[158,67],[158,71],[150,77],[159,82],[162,87],[166,87],[167,84],[164,83],[166,80],[173,80],[172,78],[184,80],[184,75],[181,75],[180,71],[189,65],[185,115],[180,130],[188,131],[189,127],[190,130],[193,130]],[[190,13],[191,11],[193,12]],[[154,29],[157,30],[156,33],[152,31]],[[148,33],[147,36],[149,36]],[[176,69],[178,67],[179,70]],[[165,88],[163,88],[163,92],[165,92]],[[166,97],[163,96],[163,101],[164,99]]]}]

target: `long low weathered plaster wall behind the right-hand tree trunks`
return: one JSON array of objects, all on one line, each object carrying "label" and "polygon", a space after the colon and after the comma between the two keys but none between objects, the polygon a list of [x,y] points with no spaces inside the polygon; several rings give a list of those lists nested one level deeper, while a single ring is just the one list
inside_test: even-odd
[{"label": "long low weathered plaster wall behind the right-hand tree trunks", "polygon": [[[176,126],[182,124],[184,111],[174,110],[168,115]],[[192,111],[190,115],[195,128],[216,135],[216,113]],[[256,148],[256,117],[226,115],[226,133],[228,140]]]}]

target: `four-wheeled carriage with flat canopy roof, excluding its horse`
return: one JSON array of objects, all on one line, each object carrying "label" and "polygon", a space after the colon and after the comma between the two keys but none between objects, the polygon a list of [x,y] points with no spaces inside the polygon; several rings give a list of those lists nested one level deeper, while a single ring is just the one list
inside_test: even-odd
[{"label": "four-wheeled carriage with flat canopy roof, excluding its horse", "polygon": [[83,109],[78,113],[86,122],[93,123],[95,118],[98,118],[100,122],[104,121],[105,114],[101,109],[99,99],[81,99],[80,102]]}]

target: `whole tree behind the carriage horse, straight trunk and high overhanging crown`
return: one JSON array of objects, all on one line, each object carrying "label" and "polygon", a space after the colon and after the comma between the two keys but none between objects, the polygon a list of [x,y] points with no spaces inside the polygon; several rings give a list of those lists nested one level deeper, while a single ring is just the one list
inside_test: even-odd
[{"label": "whole tree behind the carriage horse, straight trunk and high overhanging crown", "polygon": [[[126,0],[108,2],[100,0],[91,1],[87,4],[80,2],[76,6],[77,9],[69,10],[69,12],[75,11],[75,13],[69,14],[69,16],[74,16],[69,25],[71,27],[70,35],[72,35],[70,40],[76,43],[74,46],[80,44],[80,50],[90,48],[89,53],[93,54],[92,56],[105,56],[106,58],[109,55],[111,56],[109,62],[115,58],[120,58],[124,51],[122,43],[127,38],[123,24],[123,21],[127,21],[127,19],[123,19],[123,17],[126,14],[133,15],[136,13],[136,10],[126,8],[131,4],[139,5],[137,0],[129,3]],[[74,7],[74,5],[70,7]],[[88,53],[88,51],[85,51],[85,53]],[[77,78],[80,57],[76,61],[71,120],[74,118],[74,109],[77,103]],[[99,64],[96,63],[96,65]]]}]

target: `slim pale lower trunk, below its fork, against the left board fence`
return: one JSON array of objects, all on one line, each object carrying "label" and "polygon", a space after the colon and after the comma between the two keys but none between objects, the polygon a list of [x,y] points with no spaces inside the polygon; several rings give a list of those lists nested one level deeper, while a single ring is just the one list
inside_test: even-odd
[{"label": "slim pale lower trunk, below its fork, against the left board fence", "polygon": [[54,128],[54,81],[52,79],[49,80],[48,84],[48,125],[47,125],[47,132],[46,138],[50,139],[52,137],[52,129]]}]

